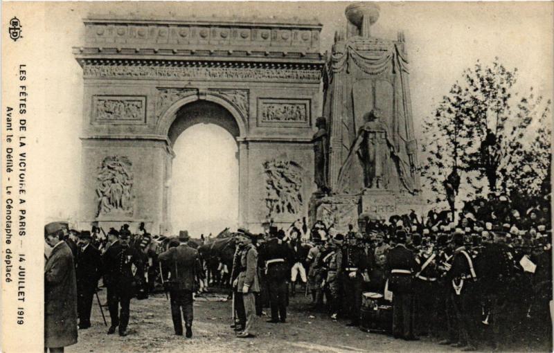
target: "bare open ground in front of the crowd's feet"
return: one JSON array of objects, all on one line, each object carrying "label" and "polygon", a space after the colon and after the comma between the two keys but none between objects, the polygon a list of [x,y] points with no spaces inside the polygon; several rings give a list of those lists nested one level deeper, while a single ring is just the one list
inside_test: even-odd
[{"label": "bare open ground in front of the crowd's feet", "polygon": [[[105,302],[105,290],[99,292]],[[132,300],[129,335],[107,336],[98,303],[93,305],[92,327],[79,331],[78,343],[66,352],[459,352],[436,341],[395,340],[384,334],[362,332],[333,322],[323,314],[303,308],[309,305],[303,296],[292,298],[285,324],[266,323],[258,318],[256,338],[235,338],[231,324],[231,301],[224,296],[208,295],[195,300],[193,338],[175,336],[169,302],[163,293],[147,300]],[[109,314],[105,308],[109,325]]]}]

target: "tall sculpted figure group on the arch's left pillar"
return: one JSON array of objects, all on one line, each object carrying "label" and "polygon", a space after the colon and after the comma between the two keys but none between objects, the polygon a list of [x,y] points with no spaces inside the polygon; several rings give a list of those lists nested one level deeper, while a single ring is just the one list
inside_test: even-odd
[{"label": "tall sculpted figure group on the arch's left pillar", "polygon": [[130,171],[131,161],[125,156],[109,156],[102,161],[98,174],[98,215],[112,210],[129,212],[131,205],[131,188],[133,175]]}]

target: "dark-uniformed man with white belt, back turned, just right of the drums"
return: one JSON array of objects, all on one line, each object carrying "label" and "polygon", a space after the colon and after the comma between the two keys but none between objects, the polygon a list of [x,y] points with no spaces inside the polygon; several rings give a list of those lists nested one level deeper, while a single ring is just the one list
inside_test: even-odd
[{"label": "dark-uniformed man with white belt, back turned, just right of the drums", "polygon": [[415,262],[413,251],[406,248],[406,232],[397,230],[396,246],[386,255],[386,269],[390,273],[388,290],[393,292],[393,336],[404,338],[406,341],[415,341],[414,320],[415,300],[413,288],[413,274],[420,267]]}]

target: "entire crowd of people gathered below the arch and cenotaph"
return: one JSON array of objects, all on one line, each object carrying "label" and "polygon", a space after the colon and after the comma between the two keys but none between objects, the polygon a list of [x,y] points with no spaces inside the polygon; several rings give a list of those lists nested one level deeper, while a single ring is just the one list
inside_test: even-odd
[{"label": "entire crowd of people gathered below the arch and cenotaph", "polygon": [[[429,335],[467,351],[498,349],[521,337],[551,344],[550,205],[549,196],[491,194],[466,203],[456,222],[452,212],[430,211],[386,220],[362,214],[358,230],[350,225],[344,233],[323,221],[308,229],[305,219],[285,230],[271,224],[264,234],[239,228],[229,239],[235,252],[224,277],[233,293],[231,326],[239,338],[254,337],[265,307],[269,323],[285,323],[301,282],[312,298],[306,309],[406,341]],[[186,231],[152,236],[143,224],[134,235],[127,225],[102,233],[45,226],[45,346],[55,352],[76,342],[77,327],[90,327],[100,278],[108,334],[127,335],[131,298],[148,298],[161,282],[175,334],[183,334],[182,310],[192,336],[193,293],[208,285],[206,259],[195,249],[202,242]],[[224,271],[228,265],[220,261]]]}]

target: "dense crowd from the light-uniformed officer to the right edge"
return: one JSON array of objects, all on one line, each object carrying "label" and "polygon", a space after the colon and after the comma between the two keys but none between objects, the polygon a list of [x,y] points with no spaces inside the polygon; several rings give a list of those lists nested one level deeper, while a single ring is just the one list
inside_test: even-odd
[{"label": "dense crowd from the light-uniformed officer to the right edge", "polygon": [[359,231],[350,225],[344,234],[323,221],[308,231],[299,224],[287,232],[270,227],[268,236],[240,230],[232,279],[245,274],[245,254],[256,249],[259,303],[257,311],[247,309],[240,297],[252,289],[233,282],[235,329],[252,336],[248,313],[260,314],[265,305],[269,322],[285,322],[299,274],[310,309],[348,318],[350,326],[406,341],[434,336],[464,351],[532,341],[551,347],[550,196],[490,194],[466,203],[456,218],[448,211],[423,219],[415,212],[386,220],[362,214]]}]

